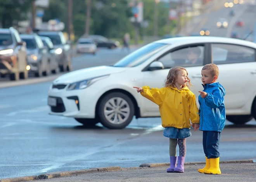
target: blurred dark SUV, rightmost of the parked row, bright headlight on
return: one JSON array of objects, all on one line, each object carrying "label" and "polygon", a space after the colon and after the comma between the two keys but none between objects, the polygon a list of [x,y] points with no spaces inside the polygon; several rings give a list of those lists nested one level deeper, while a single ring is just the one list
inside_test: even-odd
[{"label": "blurred dark SUV, rightmost of the parked row, bright headlight on", "polygon": [[58,54],[60,71],[71,71],[71,46],[67,43],[64,34],[60,31],[39,31],[38,35],[51,39],[56,49],[55,53]]}]

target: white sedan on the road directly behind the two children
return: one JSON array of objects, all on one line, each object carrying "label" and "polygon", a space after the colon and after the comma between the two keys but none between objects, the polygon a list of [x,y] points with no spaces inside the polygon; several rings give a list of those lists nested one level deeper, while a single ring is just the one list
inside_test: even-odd
[{"label": "white sedan on the road directly behind the two children", "polygon": [[201,69],[215,63],[220,70],[218,82],[227,92],[227,119],[244,124],[256,118],[255,50],[255,43],[224,37],[156,41],[112,66],[72,71],[54,80],[48,92],[49,114],[73,117],[84,125],[101,122],[107,128],[125,128],[133,116],[160,116],[158,105],[138,94],[133,86],[161,88],[169,69],[183,66],[198,97],[198,91],[203,90]]}]

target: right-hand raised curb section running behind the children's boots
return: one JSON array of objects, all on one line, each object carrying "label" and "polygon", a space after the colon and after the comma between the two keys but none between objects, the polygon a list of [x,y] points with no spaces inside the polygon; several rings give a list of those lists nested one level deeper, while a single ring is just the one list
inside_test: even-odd
[{"label": "right-hand raised curb section running behind the children's boots", "polygon": [[[256,159],[220,161],[220,164],[227,164],[227,163],[256,163]],[[184,163],[184,165],[197,165],[197,164],[205,164],[205,162],[185,162]],[[140,167],[164,167],[169,165],[170,163],[145,163],[145,164],[141,164]]]}]

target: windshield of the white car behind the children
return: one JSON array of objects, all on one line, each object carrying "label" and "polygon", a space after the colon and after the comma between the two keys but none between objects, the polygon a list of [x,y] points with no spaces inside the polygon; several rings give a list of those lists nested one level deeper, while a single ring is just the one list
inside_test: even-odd
[{"label": "windshield of the white car behind the children", "polygon": [[148,58],[153,56],[154,54],[158,53],[162,49],[166,48],[170,44],[163,44],[163,43],[150,43],[142,48],[134,51],[131,54],[125,56],[125,58],[118,61],[113,66],[115,67],[134,67],[138,66],[141,63],[144,63]]}]

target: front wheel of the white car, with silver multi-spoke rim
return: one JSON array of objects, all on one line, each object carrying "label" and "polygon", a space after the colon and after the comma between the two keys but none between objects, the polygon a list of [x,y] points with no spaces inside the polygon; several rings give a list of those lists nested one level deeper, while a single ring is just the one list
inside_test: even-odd
[{"label": "front wheel of the white car, with silver multi-spoke rim", "polygon": [[99,118],[103,126],[109,129],[123,129],[134,116],[131,99],[120,92],[107,94],[99,104]]}]

